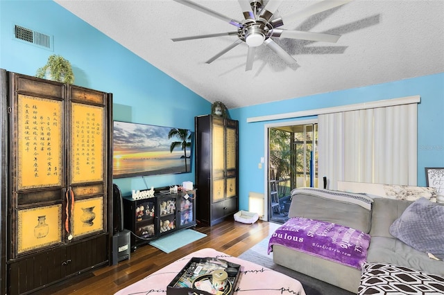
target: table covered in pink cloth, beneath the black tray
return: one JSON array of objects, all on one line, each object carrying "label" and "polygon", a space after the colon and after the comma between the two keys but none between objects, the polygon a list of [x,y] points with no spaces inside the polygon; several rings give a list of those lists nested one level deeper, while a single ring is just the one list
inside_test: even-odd
[{"label": "table covered in pink cloth, beneath the black tray", "polygon": [[176,262],[155,271],[142,280],[121,289],[115,295],[128,294],[167,294],[167,285],[173,280],[178,272],[185,267],[193,257],[221,258],[241,265],[241,276],[235,287],[234,294],[238,295],[273,295],[292,294],[305,295],[301,283],[277,271],[273,271],[253,262],[229,256],[223,252],[211,248],[205,248],[176,260]]}]

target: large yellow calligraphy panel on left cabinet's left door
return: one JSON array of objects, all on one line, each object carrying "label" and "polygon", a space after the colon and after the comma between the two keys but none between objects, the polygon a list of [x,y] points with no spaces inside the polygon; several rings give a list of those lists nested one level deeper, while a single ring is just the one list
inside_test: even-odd
[{"label": "large yellow calligraphy panel on left cabinet's left door", "polygon": [[62,186],[62,102],[18,96],[17,188]]}]

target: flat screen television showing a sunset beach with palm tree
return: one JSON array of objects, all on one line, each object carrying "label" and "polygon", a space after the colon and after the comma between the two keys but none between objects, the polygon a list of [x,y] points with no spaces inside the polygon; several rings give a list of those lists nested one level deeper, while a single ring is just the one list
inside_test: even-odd
[{"label": "flat screen television showing a sunset beach with palm tree", "polygon": [[114,121],[114,178],[191,172],[194,132]]}]

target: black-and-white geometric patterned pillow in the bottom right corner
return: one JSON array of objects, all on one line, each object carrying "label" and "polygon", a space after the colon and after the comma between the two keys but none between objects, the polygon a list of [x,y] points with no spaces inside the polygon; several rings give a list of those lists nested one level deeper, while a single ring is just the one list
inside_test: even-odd
[{"label": "black-and-white geometric patterned pillow in the bottom right corner", "polygon": [[408,267],[366,263],[358,295],[444,294],[444,277]]}]

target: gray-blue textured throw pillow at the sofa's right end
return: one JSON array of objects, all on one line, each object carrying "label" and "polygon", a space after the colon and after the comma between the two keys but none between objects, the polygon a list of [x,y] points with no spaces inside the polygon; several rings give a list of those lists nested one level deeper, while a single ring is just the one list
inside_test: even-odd
[{"label": "gray-blue textured throw pillow at the sofa's right end", "polygon": [[444,206],[420,198],[390,226],[390,233],[418,251],[444,258]]}]

